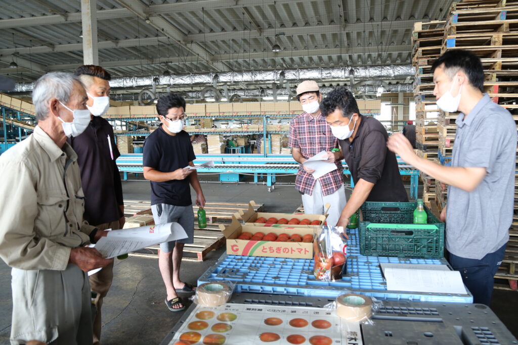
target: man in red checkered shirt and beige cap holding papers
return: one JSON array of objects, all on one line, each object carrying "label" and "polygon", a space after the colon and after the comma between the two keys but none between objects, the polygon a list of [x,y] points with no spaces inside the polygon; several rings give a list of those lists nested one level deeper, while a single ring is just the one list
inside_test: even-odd
[{"label": "man in red checkered shirt and beige cap holding papers", "polygon": [[[343,168],[338,139],[333,136],[325,117],[320,113],[322,95],[316,82],[307,80],[297,87],[297,99],[304,110],[290,122],[290,142],[292,156],[301,163],[295,179],[295,188],[302,194],[304,212],[306,214],[323,214],[324,205],[330,204],[327,224],[335,226],[343,207],[346,206],[346,193],[343,189]],[[335,163],[337,169],[315,179],[311,175],[314,170],[304,163],[319,152],[326,151],[327,162]]]}]

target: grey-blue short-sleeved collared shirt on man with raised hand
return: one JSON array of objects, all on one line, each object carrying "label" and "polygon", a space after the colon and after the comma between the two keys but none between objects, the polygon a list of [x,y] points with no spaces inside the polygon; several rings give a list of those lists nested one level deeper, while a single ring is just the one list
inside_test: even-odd
[{"label": "grey-blue short-sleeved collared shirt on man with raised hand", "polygon": [[452,167],[487,173],[471,192],[449,186],[446,248],[458,257],[482,259],[509,239],[516,170],[516,124],[509,112],[484,97],[455,122]]}]

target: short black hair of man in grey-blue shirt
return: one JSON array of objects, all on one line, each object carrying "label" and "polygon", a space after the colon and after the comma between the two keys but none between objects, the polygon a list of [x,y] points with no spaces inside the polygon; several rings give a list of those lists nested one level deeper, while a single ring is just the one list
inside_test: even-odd
[{"label": "short black hair of man in grey-blue shirt", "polygon": [[449,50],[439,56],[439,58],[431,66],[431,72],[444,64],[444,73],[450,79],[455,77],[455,74],[462,70],[468,76],[469,83],[484,92],[484,67],[480,58],[467,50]]}]

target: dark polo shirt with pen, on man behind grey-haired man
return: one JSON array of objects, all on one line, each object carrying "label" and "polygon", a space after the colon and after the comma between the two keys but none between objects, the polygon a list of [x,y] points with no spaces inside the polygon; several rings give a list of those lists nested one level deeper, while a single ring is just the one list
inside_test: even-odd
[{"label": "dark polo shirt with pen, on man behind grey-haired man", "polygon": [[84,190],[84,219],[90,224],[100,225],[121,218],[123,214],[119,205],[124,201],[121,175],[116,164],[121,154],[113,139],[113,127],[106,119],[94,116],[80,136],[69,138],[67,142],[78,156]]}]

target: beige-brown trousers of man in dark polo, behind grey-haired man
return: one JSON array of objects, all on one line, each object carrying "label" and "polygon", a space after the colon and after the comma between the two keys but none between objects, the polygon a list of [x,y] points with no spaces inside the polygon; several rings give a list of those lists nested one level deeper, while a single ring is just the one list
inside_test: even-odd
[{"label": "beige-brown trousers of man in dark polo, behind grey-haired man", "polygon": [[[119,220],[112,221],[111,223],[96,225],[100,230],[118,230]],[[93,343],[100,344],[100,329],[103,324],[101,322],[101,307],[103,306],[103,299],[110,290],[111,283],[113,281],[113,263],[101,269],[96,274],[90,276],[90,289],[97,292],[95,298],[95,306],[97,307],[97,314],[95,315],[93,323]]]}]

